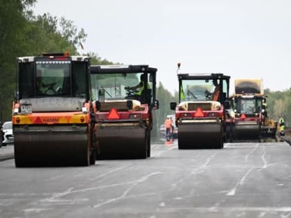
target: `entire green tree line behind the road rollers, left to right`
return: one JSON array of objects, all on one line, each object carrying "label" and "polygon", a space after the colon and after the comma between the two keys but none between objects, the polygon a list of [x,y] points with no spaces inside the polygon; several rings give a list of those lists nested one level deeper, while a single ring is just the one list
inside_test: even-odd
[{"label": "entire green tree line behind the road rollers, left to right", "polygon": [[[78,49],[86,42],[84,29],[78,29],[73,21],[64,17],[54,17],[49,13],[34,15],[31,10],[36,0],[1,1],[0,4],[0,121],[11,120],[11,105],[15,96],[17,63],[16,57],[37,56],[42,52],[69,51],[71,55],[80,55]],[[91,64],[113,64],[102,59],[96,52],[87,54]],[[118,63],[115,63],[118,64]],[[154,66],[159,69],[158,66]],[[159,73],[159,71],[157,72]],[[174,72],[173,72],[174,73]],[[178,82],[178,81],[177,81]],[[267,94],[268,116],[285,118],[290,125],[291,88],[285,91],[271,91]],[[159,127],[164,123],[170,110],[170,102],[178,100],[178,94],[172,95],[163,84],[157,87],[157,100],[160,108],[154,111],[155,125],[152,136],[159,136]]]}]

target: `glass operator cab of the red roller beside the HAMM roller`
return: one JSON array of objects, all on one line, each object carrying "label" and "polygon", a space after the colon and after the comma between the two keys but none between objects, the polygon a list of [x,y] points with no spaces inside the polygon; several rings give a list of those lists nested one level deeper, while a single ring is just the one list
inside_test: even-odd
[{"label": "glass operator cab of the red roller beside the HAMM roller", "polygon": [[91,66],[93,100],[139,100],[141,104],[157,107],[156,72],[147,65]]}]

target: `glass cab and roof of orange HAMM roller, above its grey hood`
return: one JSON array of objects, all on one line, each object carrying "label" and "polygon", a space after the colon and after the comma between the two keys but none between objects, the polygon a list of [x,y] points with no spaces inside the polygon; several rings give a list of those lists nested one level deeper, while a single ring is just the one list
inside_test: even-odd
[{"label": "glass cab and roof of orange HAMM roller, above its grey hood", "polygon": [[55,96],[89,100],[89,60],[86,58],[69,56],[69,53],[19,57],[19,99]]}]

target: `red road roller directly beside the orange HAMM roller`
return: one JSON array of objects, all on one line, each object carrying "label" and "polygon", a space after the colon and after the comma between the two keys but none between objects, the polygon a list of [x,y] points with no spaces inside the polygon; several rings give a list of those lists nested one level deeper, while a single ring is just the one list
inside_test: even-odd
[{"label": "red road roller directly beside the orange HAMM roller", "polygon": [[98,158],[150,157],[156,73],[148,65],[91,66]]}]

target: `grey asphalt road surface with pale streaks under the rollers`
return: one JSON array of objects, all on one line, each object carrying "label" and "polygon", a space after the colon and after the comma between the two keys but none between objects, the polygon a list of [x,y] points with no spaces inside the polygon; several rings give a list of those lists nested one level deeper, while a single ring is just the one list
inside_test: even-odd
[{"label": "grey asphalt road surface with pale streaks under the rollers", "polygon": [[0,162],[0,217],[291,217],[288,143],[152,145],[145,160],[90,167]]}]

